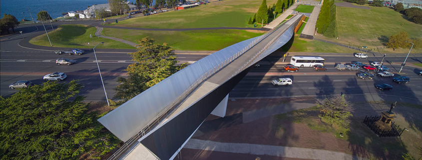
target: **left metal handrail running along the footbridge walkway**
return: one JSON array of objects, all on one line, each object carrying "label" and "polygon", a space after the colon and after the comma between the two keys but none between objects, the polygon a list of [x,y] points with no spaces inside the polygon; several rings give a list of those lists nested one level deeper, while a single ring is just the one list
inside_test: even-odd
[{"label": "left metal handrail running along the footbridge walkway", "polygon": [[120,159],[126,153],[126,151],[128,151],[129,149],[131,149],[135,145],[135,143],[137,142],[137,140],[139,140],[140,138],[142,138],[142,136],[145,136],[145,134],[147,134],[154,127],[156,127],[159,124],[159,122],[161,122],[163,119],[165,119],[169,115],[169,113],[171,113],[172,111],[174,111],[181,104],[181,102],[183,102],[183,100],[190,93],[192,93],[192,91],[194,91],[199,86],[199,84],[203,83],[206,79],[208,79],[209,77],[211,77],[212,75],[214,75],[215,73],[217,73],[218,71],[220,71],[221,69],[223,69],[225,66],[227,66],[228,64],[230,64],[233,60],[237,59],[239,56],[241,56],[243,53],[245,53],[250,48],[252,48],[253,46],[255,46],[257,43],[261,42],[269,34],[271,34],[272,32],[274,32],[274,30],[278,29],[282,24],[283,23],[280,23],[279,25],[277,25],[277,27],[275,27],[273,29],[270,29],[269,31],[267,31],[264,34],[260,35],[258,38],[256,38],[251,43],[249,43],[249,45],[246,46],[245,48],[243,48],[241,51],[237,52],[235,55],[231,56],[229,59],[226,59],[223,63],[220,63],[217,67],[214,67],[210,71],[208,71],[205,74],[203,74],[200,79],[196,80],[191,86],[188,87],[188,89],[186,89],[172,103],[170,103],[169,105],[167,105],[167,107],[165,107],[165,109],[162,110],[154,118],[153,121],[151,121],[150,123],[148,123],[145,128],[143,128],[135,136],[133,136],[132,138],[130,138],[128,141],[126,141],[126,143],[124,143],[122,145],[122,147],[120,147],[120,149],[117,150],[113,155],[111,155],[107,160],[118,160],[118,159]]}]

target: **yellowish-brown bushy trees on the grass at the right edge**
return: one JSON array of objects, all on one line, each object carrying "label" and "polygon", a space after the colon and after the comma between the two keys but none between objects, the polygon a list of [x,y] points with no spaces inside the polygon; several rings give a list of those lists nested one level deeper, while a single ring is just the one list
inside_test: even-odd
[{"label": "yellowish-brown bushy trees on the grass at the right edge", "polygon": [[422,39],[410,38],[409,33],[406,31],[390,36],[389,42],[387,42],[386,45],[389,48],[393,48],[393,50],[396,50],[397,48],[410,48],[412,44],[406,41],[414,43],[414,48],[422,48]]}]

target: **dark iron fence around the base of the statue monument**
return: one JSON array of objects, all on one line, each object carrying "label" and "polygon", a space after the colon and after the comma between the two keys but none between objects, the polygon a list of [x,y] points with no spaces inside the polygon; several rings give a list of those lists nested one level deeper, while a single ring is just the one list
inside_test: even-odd
[{"label": "dark iron fence around the base of the statue monument", "polygon": [[400,137],[404,129],[400,128],[400,125],[397,126],[394,122],[391,124],[390,131],[384,131],[375,125],[375,122],[381,119],[381,116],[365,116],[364,124],[368,126],[375,134],[379,137]]}]

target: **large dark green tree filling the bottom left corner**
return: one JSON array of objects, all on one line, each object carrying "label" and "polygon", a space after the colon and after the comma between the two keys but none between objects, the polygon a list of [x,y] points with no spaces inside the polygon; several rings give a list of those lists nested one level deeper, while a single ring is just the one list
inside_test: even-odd
[{"label": "large dark green tree filling the bottom left corner", "polygon": [[[120,141],[87,112],[77,81],[45,82],[0,97],[2,160],[99,159]],[[105,113],[104,113],[105,114]]]}]

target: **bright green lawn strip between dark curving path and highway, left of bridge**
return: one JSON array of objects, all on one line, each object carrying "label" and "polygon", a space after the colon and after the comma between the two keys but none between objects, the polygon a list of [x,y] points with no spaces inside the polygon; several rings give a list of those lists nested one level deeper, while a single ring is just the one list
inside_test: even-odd
[{"label": "bright green lawn strip between dark curving path and highway, left of bridge", "polygon": [[156,43],[168,43],[177,50],[220,50],[240,41],[262,35],[246,30],[191,30],[191,31],[144,31],[104,28],[103,35],[118,37],[132,42],[149,36]]}]

